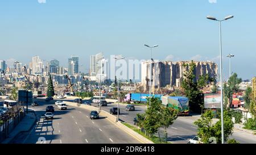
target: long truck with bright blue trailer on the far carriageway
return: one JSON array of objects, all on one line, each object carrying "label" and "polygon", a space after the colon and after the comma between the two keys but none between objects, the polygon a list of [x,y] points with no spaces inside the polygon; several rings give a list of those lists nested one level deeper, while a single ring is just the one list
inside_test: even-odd
[{"label": "long truck with bright blue trailer on the far carriageway", "polygon": [[[161,98],[163,95],[162,94],[151,94],[151,97],[155,98]],[[132,93],[132,94],[126,94],[125,95],[125,102],[127,103],[146,103],[147,98],[150,97],[150,94],[141,94],[141,93]]]}]

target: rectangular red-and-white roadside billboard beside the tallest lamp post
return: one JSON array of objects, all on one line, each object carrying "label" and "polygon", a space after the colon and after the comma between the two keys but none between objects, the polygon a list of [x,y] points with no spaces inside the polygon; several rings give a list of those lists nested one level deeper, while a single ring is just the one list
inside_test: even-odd
[{"label": "rectangular red-and-white roadside billboard beside the tallest lamp post", "polygon": [[221,95],[204,94],[204,108],[221,108]]}]

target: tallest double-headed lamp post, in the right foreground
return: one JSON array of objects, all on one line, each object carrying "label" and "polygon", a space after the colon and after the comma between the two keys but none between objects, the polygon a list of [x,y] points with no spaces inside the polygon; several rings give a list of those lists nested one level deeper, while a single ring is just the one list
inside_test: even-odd
[{"label": "tallest double-headed lamp post, in the right foreground", "polygon": [[218,20],[213,16],[207,16],[207,19],[216,20],[220,23],[220,76],[221,76],[221,143],[224,144],[224,119],[223,119],[223,75],[222,75],[222,40],[221,40],[221,22],[233,18],[233,15],[226,16],[225,19]]}]

